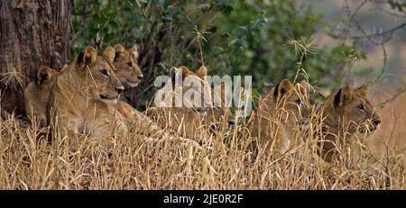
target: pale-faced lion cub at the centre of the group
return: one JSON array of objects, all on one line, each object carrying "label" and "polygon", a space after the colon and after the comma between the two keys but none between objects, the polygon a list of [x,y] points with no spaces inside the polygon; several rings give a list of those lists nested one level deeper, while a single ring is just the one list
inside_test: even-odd
[{"label": "pale-faced lion cub at the centre of the group", "polygon": [[[201,67],[197,72],[187,67],[174,70],[171,81],[161,88],[156,95],[172,95],[170,106],[153,106],[147,110],[147,115],[157,121],[161,128],[177,131],[188,138],[202,138],[211,131],[211,127],[220,121],[231,117],[231,112],[224,102],[225,87],[218,86],[215,91],[208,83],[207,68]],[[175,86],[177,80],[182,80],[182,86]],[[187,95],[191,95],[188,96]],[[214,99],[217,97],[217,99]],[[219,101],[221,104],[214,104]],[[181,106],[177,106],[180,102]]]}]

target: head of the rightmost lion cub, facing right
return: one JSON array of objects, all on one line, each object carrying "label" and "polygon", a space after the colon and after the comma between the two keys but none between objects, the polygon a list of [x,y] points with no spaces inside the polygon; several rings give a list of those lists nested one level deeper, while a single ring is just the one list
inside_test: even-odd
[{"label": "head of the rightmost lion cub, facing right", "polygon": [[[344,86],[325,103],[330,128],[342,126],[348,133],[374,132],[381,119],[367,98],[368,86]],[[334,123],[334,124],[333,124]]]}]

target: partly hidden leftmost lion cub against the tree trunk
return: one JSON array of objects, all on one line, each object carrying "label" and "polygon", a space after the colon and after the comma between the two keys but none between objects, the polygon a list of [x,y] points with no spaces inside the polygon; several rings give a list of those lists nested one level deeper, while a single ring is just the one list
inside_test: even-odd
[{"label": "partly hidden leftmost lion cub against the tree trunk", "polygon": [[59,72],[47,66],[41,66],[33,80],[24,90],[25,111],[31,118],[45,122],[46,104]]}]

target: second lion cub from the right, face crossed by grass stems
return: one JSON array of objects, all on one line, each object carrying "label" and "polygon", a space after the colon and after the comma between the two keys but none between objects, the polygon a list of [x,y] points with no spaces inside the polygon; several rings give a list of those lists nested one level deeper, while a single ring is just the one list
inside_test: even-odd
[{"label": "second lion cub from the right, face crossed by grass stems", "polygon": [[248,121],[248,130],[254,138],[252,149],[258,153],[285,153],[298,142],[294,135],[297,127],[309,123],[309,84],[302,81],[293,85],[283,79],[265,95]]}]

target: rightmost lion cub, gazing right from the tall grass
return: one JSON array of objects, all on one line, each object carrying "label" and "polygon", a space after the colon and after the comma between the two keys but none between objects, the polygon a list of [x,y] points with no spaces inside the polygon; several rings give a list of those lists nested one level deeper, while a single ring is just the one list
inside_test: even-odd
[{"label": "rightmost lion cub, gazing right from the tall grass", "polygon": [[367,95],[366,85],[356,89],[344,86],[324,102],[322,113],[325,119],[318,153],[327,162],[339,157],[337,146],[349,147],[353,161],[357,161],[360,148],[355,133],[373,133],[381,122]]}]

